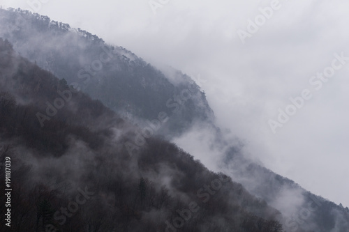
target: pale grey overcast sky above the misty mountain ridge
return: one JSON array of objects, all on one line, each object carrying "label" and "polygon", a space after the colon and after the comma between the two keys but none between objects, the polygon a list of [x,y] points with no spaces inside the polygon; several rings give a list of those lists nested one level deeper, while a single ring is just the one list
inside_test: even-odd
[{"label": "pale grey overcast sky above the misty mountain ridge", "polygon": [[[41,1],[0,4],[47,15],[147,62],[200,76],[218,125],[242,139],[246,153],[349,206],[349,61],[334,61],[335,54],[349,57],[348,1],[155,0],[153,8],[149,0]],[[269,19],[261,16],[266,7]],[[312,78],[324,70],[333,76]],[[311,96],[304,106],[288,107],[303,91]],[[279,127],[279,109],[286,107],[295,114]]]}]

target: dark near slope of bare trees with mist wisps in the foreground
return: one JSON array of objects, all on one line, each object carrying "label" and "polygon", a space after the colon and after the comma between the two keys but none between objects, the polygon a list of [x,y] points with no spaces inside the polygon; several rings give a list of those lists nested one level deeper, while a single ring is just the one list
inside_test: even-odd
[{"label": "dark near slope of bare trees with mist wisps in the foreground", "polygon": [[[0,83],[0,178],[10,167],[12,188],[1,231],[281,231],[280,212],[174,144],[152,137],[129,155],[137,127],[3,39]],[[59,109],[41,127],[47,102]]]}]

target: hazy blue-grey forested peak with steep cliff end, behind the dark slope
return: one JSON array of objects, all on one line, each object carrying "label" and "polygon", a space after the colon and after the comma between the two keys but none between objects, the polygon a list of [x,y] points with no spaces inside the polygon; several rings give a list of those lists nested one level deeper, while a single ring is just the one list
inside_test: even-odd
[{"label": "hazy blue-grey forested peak with steep cliff end, behind the dark slope", "polygon": [[[170,116],[162,134],[179,134],[194,121],[213,121],[205,93],[187,75],[162,72],[123,47],[26,10],[1,10],[0,31],[30,61],[123,116],[149,121]],[[35,36],[34,36],[35,35]],[[136,120],[138,123],[142,123]]]}]

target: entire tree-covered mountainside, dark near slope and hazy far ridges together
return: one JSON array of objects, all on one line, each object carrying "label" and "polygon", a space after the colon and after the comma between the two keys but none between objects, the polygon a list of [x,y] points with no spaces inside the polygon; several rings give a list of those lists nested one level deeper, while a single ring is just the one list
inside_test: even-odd
[{"label": "entire tree-covered mountainside, dark near slope and hazy far ridges together", "polygon": [[[225,141],[190,77],[27,10],[0,9],[1,37],[12,231],[348,231],[348,208]],[[230,146],[224,174],[166,141],[197,122]]]}]

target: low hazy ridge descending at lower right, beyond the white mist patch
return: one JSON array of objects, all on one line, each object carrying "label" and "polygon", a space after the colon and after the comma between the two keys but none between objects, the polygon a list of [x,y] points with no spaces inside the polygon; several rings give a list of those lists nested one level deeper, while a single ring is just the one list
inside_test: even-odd
[{"label": "low hazy ridge descending at lower right, beyond the white mist patch", "polygon": [[283,213],[285,231],[332,231],[349,229],[349,209],[304,190],[294,181],[255,164],[230,150],[223,173],[246,190]]}]

